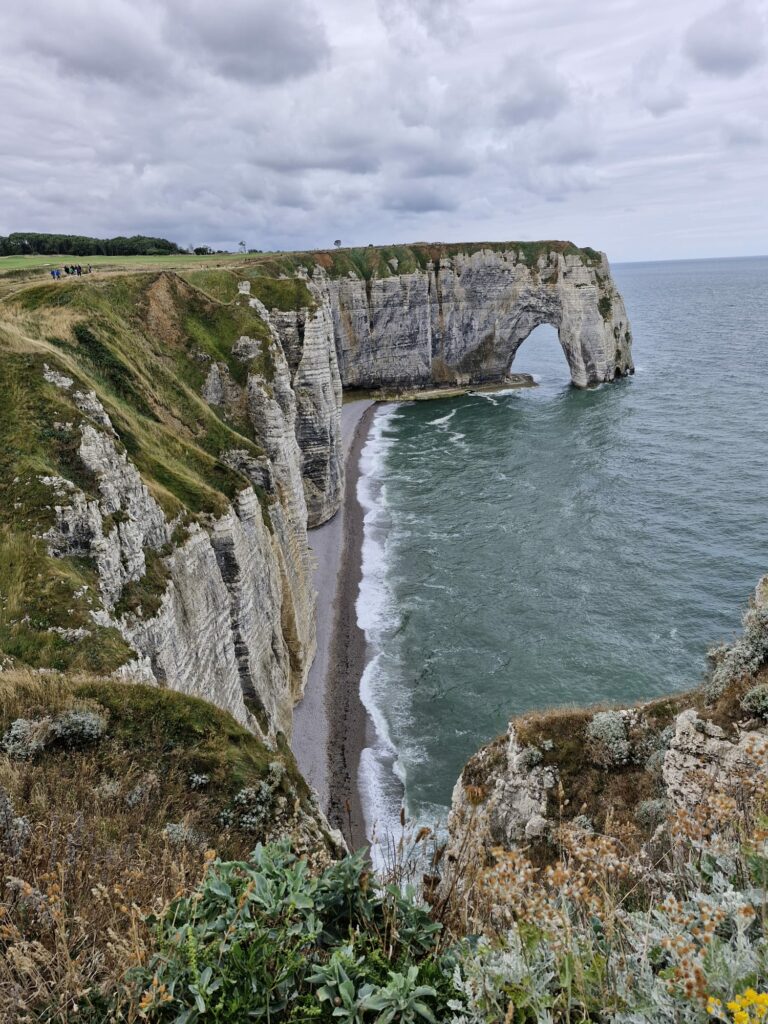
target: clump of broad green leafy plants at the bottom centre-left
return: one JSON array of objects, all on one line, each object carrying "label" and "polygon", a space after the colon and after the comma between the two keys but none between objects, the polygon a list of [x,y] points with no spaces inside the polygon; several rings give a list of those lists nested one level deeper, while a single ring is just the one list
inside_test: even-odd
[{"label": "clump of broad green leafy plants at the bottom centre-left", "polygon": [[435,1024],[454,994],[439,931],[413,893],[376,884],[361,854],[312,877],[287,844],[248,861],[211,853],[201,885],[157,922],[130,1001],[174,1024]]}]

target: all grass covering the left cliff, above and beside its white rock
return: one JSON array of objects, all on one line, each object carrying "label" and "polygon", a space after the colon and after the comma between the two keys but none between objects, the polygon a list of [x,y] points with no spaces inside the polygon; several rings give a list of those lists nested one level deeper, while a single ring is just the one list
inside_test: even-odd
[{"label": "all grass covering the left cliff, above and beside its white rock", "polygon": [[[217,301],[213,290],[162,271],[50,282],[0,302],[0,655],[6,664],[109,672],[130,654],[117,631],[91,618],[99,603],[92,562],[53,558],[40,539],[61,502],[45,478],[63,477],[89,499],[99,497],[79,458],[87,417],[76,391],[95,392],[119,435],[118,450],[169,519],[183,526],[221,514],[247,485],[220,461],[230,449],[261,454],[246,410],[217,411],[201,388],[214,361],[241,384],[251,367],[268,370],[270,335],[246,301]],[[254,364],[231,353],[242,335],[261,342]],[[47,381],[46,365],[74,386]],[[151,579],[144,589],[134,596],[146,605]],[[72,630],[82,636],[73,640]]]}]

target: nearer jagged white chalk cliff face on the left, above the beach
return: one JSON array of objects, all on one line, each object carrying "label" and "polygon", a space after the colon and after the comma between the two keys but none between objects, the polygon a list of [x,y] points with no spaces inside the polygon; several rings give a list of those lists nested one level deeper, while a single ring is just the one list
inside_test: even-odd
[{"label": "nearer jagged white chalk cliff face on the left, above the beach", "polygon": [[[48,379],[72,388],[63,375]],[[45,534],[49,553],[94,560],[101,597],[94,618],[116,628],[136,652],[119,674],[205,697],[267,736],[290,735],[293,703],[314,652],[306,506],[287,380],[287,365],[276,353],[273,384],[252,378],[249,386],[254,420],[273,461],[237,451],[224,460],[267,492],[269,523],[244,480],[226,514],[194,523],[174,547],[175,524],[119,450],[93,394],[87,402],[79,393],[74,397],[89,417],[80,425],[79,454],[98,499],[68,480],[44,481],[60,501]],[[154,614],[119,613],[126,586],[145,574],[147,552],[166,574],[160,607]]]}]

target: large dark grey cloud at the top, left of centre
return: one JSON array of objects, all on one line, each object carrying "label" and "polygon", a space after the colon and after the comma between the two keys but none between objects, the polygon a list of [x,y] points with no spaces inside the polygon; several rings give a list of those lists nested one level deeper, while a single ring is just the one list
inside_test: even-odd
[{"label": "large dark grey cloud at the top, left of centre", "polygon": [[306,0],[170,0],[166,38],[190,48],[217,75],[253,83],[280,83],[323,68],[331,48],[315,9]]}]

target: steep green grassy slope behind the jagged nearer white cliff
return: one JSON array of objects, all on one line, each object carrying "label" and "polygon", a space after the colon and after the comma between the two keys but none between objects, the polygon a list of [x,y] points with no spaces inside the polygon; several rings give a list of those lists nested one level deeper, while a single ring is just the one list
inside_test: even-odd
[{"label": "steep green grassy slope behind the jagged nearer white cliff", "polygon": [[[51,301],[48,301],[51,300]],[[10,300],[33,331],[75,361],[103,401],[128,454],[170,514],[221,513],[243,478],[223,466],[229,447],[261,453],[246,416],[227,422],[201,396],[211,360],[245,384],[248,367],[231,354],[242,335],[269,341],[245,305],[221,305],[173,274],[115,278],[60,291],[30,288]],[[66,310],[68,333],[47,334]],[[41,371],[38,371],[41,373]],[[77,417],[77,414],[74,414]],[[73,419],[71,414],[70,419]],[[79,419],[79,417],[77,417]]]}]

